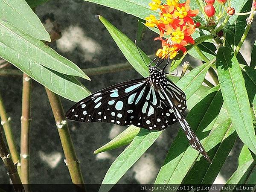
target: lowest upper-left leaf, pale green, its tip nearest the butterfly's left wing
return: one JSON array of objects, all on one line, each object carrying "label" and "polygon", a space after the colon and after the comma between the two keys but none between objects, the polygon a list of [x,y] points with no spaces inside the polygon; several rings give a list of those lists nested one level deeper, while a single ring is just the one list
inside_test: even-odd
[{"label": "lowest upper-left leaf, pale green, its tip nearest the butterfly's left wing", "polygon": [[0,42],[0,53],[6,61],[15,64],[17,68],[38,81],[52,92],[75,102],[90,94],[74,76],[67,76],[44,67],[38,62],[17,54],[5,44]]}]

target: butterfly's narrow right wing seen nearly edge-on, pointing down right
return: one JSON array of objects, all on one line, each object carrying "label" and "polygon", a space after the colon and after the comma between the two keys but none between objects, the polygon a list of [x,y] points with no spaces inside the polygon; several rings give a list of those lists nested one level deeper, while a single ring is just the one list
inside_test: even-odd
[{"label": "butterfly's narrow right wing seen nearly edge-on, pointing down right", "polygon": [[190,145],[192,145],[192,148],[201,153],[211,163],[211,160],[209,159],[207,152],[204,150],[203,145],[200,143],[198,137],[195,135],[194,131],[189,127],[189,123],[184,118],[182,108],[178,109],[175,103],[172,102],[172,100],[177,99],[175,98],[175,94],[170,94],[169,90],[165,91],[163,87],[161,87],[161,90],[166,98],[166,101],[169,103],[170,108],[173,111],[173,114],[175,115],[175,119],[177,119],[177,121],[180,123],[182,130],[185,132],[185,135],[189,140]]}]

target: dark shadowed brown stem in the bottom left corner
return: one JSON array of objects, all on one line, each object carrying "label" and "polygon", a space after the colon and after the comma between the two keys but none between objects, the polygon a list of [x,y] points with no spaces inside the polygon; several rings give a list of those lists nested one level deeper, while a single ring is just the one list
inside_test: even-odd
[{"label": "dark shadowed brown stem in the bottom left corner", "polygon": [[10,179],[12,180],[12,183],[14,184],[14,190],[15,192],[23,192],[24,188],[21,183],[17,167],[12,161],[12,157],[10,156],[8,149],[6,147],[6,144],[3,141],[3,134],[2,134],[2,128],[0,127],[0,157],[3,160],[3,163],[5,164],[8,175]]}]

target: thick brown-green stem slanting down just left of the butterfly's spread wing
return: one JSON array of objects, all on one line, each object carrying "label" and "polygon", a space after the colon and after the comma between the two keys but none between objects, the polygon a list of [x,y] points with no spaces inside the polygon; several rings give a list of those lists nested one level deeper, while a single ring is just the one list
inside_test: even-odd
[{"label": "thick brown-green stem slanting down just left of the butterfly's spread wing", "polygon": [[47,92],[48,99],[52,107],[52,112],[58,128],[62,148],[66,157],[65,162],[70,172],[71,180],[74,184],[80,184],[79,187],[81,191],[85,191],[84,180],[81,174],[79,161],[77,160],[76,151],[72,143],[70,131],[67,125],[67,120],[64,114],[60,97],[52,91],[48,90],[46,87],[45,90]]}]

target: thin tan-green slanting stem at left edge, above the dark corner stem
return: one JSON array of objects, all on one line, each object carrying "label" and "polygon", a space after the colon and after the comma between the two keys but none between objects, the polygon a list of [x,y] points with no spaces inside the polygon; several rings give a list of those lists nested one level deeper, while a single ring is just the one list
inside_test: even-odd
[{"label": "thin tan-green slanting stem at left edge, above the dark corner stem", "polygon": [[17,149],[15,147],[15,141],[13,139],[12,129],[10,126],[11,118],[7,116],[1,95],[0,95],[0,117],[1,117],[1,125],[3,125],[3,130],[6,136],[7,144],[12,156],[13,163],[15,165],[17,164],[18,172],[20,172],[20,156],[17,153]]}]

